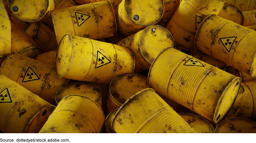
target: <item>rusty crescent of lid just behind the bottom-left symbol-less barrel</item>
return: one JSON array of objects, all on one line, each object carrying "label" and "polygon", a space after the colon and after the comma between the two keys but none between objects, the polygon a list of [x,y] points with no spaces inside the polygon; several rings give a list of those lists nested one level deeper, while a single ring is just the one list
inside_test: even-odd
[{"label": "rusty crescent of lid just behind the bottom-left symbol-less barrel", "polygon": [[80,95],[89,98],[90,100],[98,103],[101,99],[101,91],[100,89],[91,83],[85,82],[76,82],[66,85],[59,89],[59,91],[55,95],[55,100],[57,104],[59,101],[69,95]]}]

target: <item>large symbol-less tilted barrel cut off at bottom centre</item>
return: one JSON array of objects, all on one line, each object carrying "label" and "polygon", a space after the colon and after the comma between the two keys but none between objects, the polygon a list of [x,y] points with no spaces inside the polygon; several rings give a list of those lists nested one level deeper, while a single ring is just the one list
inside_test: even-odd
[{"label": "large symbol-less tilted barrel cut off at bottom centre", "polygon": [[153,89],[134,94],[117,111],[117,133],[197,133]]}]

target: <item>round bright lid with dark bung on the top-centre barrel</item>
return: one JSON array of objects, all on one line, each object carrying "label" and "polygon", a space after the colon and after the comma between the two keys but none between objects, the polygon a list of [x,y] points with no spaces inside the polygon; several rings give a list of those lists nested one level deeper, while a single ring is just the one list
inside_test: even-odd
[{"label": "round bright lid with dark bung on the top-centre barrel", "polygon": [[136,24],[156,24],[163,16],[163,0],[125,0],[125,10]]}]

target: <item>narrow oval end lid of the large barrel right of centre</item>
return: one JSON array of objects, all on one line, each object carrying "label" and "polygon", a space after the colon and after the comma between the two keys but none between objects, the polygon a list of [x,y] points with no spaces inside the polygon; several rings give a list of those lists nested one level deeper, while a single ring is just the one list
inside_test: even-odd
[{"label": "narrow oval end lid of the large barrel right of centre", "polygon": [[228,114],[236,100],[237,94],[240,89],[240,84],[241,80],[238,77],[230,81],[230,83],[222,93],[219,102],[217,103],[215,113],[213,116],[214,123],[219,123],[226,117],[226,115]]}]

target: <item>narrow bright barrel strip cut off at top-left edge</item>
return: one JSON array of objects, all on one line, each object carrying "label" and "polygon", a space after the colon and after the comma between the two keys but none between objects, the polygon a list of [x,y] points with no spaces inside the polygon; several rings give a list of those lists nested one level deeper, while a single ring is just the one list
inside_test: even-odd
[{"label": "narrow bright barrel strip cut off at top-left edge", "polygon": [[11,53],[11,17],[8,5],[0,0],[0,56],[8,56]]}]

